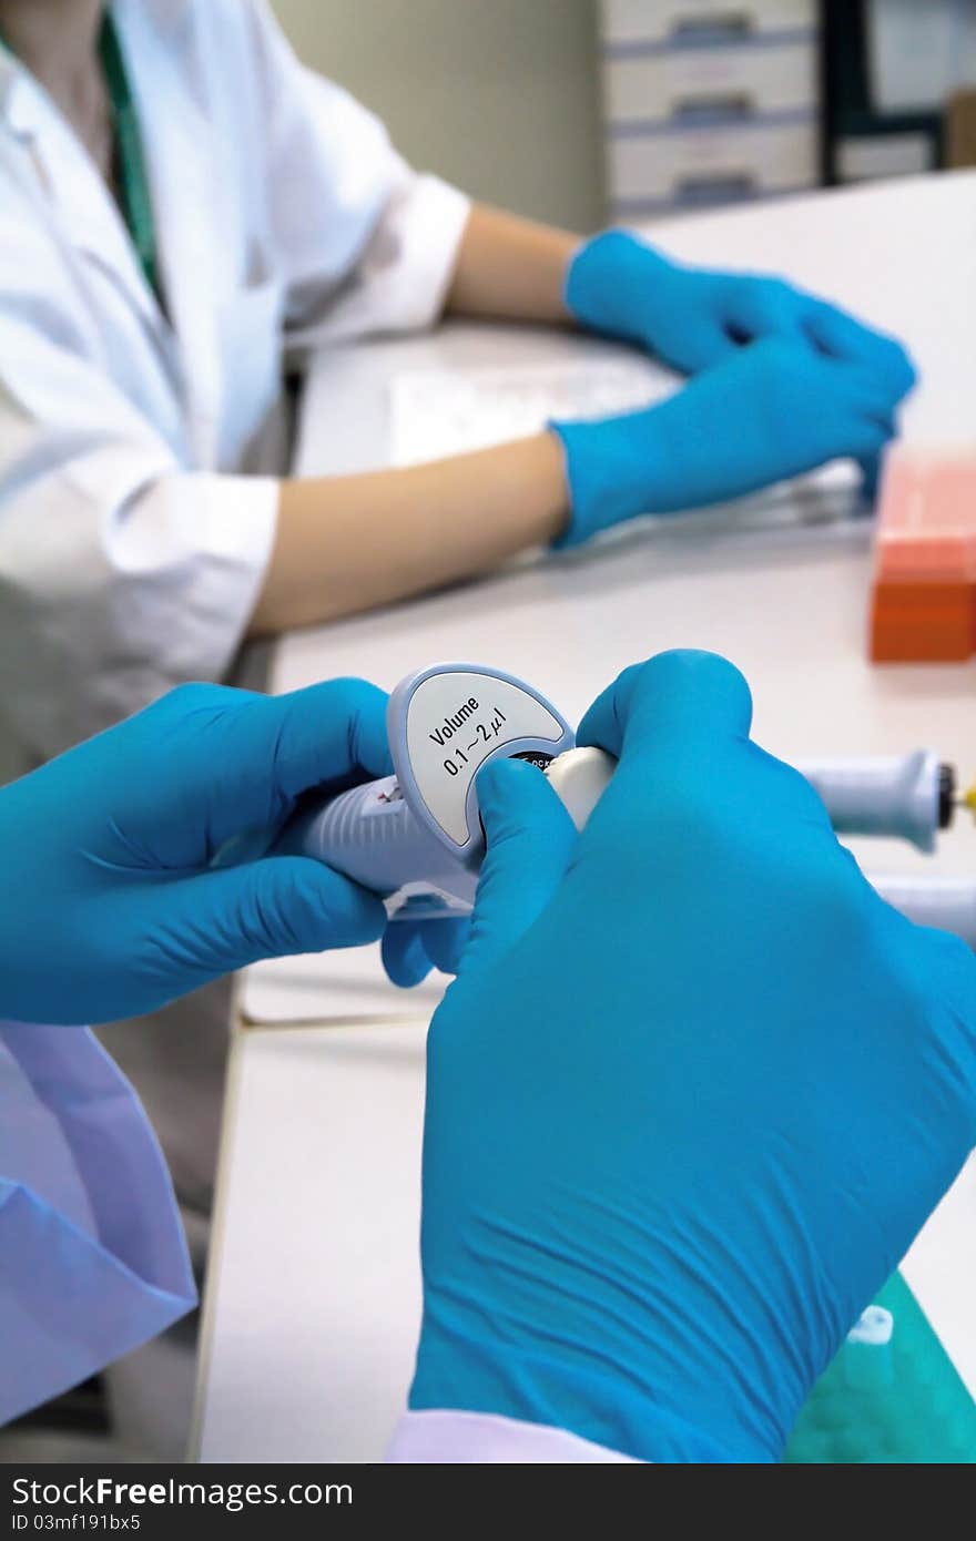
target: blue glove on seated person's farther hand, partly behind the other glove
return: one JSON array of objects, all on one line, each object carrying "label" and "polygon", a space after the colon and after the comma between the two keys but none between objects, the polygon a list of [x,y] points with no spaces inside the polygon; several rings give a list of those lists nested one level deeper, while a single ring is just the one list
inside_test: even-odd
[{"label": "blue glove on seated person's farther hand, partly behind the other glove", "polygon": [[566,273],[566,305],[584,327],[635,342],[683,374],[743,342],[803,341],[871,367],[899,401],[914,384],[900,342],[782,279],[672,262],[626,230],[587,240]]}]

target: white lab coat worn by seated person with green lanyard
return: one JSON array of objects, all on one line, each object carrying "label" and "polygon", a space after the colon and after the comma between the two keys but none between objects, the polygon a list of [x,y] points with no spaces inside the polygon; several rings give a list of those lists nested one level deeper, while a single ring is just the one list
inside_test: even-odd
[{"label": "white lab coat worn by seated person with green lanyard", "polygon": [[433,321],[469,208],[298,63],[264,0],[114,15],[168,316],[93,162],[0,51],[0,740],[17,770],[227,676],[274,535],[285,354]]}]

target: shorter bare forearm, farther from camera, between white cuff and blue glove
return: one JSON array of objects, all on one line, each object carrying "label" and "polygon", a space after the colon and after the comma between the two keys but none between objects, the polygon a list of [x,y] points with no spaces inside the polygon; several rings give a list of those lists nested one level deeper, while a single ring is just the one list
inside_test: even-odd
[{"label": "shorter bare forearm, farther from camera, between white cuff and blue glove", "polygon": [[447,310],[464,316],[566,324],[566,268],[580,237],[475,203]]}]

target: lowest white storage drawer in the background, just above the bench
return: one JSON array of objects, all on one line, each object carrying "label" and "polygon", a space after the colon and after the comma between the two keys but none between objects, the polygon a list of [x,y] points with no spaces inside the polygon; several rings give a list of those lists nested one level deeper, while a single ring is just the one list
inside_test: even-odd
[{"label": "lowest white storage drawer in the background, just above the bench", "polygon": [[720,203],[817,182],[817,125],[618,133],[607,139],[614,216],[655,205]]}]

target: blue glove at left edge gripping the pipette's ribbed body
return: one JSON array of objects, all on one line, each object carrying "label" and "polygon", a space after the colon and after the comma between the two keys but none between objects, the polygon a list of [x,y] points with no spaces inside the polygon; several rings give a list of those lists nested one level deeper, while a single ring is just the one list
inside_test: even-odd
[{"label": "blue glove at left edge gripping the pipette's ribbed body", "polygon": [[267,848],[296,800],[392,769],[385,695],[183,686],[0,791],[0,1017],[137,1016],[256,959],[382,934],[379,898]]}]

